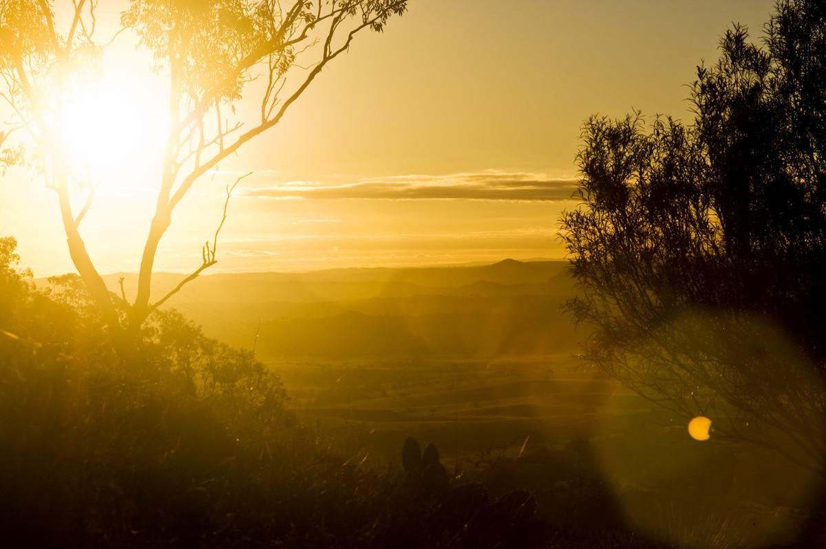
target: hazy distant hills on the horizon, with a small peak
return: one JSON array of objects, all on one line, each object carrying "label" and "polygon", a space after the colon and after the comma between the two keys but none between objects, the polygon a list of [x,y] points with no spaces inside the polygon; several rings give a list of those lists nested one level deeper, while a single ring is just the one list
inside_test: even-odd
[{"label": "hazy distant hills on the horizon, with a small peak", "polygon": [[[105,277],[134,296],[136,276]],[[154,275],[154,296],[181,279]],[[204,275],[169,301],[263,360],[453,357],[574,351],[586,334],[562,307],[575,286],[562,261]]]}]

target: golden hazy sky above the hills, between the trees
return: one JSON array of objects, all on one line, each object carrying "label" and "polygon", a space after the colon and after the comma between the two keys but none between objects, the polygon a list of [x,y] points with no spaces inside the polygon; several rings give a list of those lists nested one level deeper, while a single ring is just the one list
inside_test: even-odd
[{"label": "golden hazy sky above the hills, between the trees", "polygon": [[[223,185],[247,170],[216,271],[559,258],[582,122],[633,108],[686,118],[695,66],[716,59],[732,21],[758,35],[772,5],[411,0],[384,33],[359,35],[279,127],[197,184],[159,270],[197,267]],[[134,54],[134,38],[120,47],[112,54]],[[20,169],[0,185],[0,234],[17,237],[23,262],[38,276],[71,270],[54,193]],[[136,270],[154,188],[102,183],[83,225],[102,272]]]}]

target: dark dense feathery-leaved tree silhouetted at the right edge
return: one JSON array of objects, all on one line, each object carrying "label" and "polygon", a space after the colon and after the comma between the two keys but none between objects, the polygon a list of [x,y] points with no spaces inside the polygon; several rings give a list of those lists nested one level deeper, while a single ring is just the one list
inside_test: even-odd
[{"label": "dark dense feathery-leaved tree silhouetted at the right edge", "polygon": [[586,358],[717,433],[826,457],[826,4],[733,26],[691,84],[692,125],[584,126],[561,235]]}]

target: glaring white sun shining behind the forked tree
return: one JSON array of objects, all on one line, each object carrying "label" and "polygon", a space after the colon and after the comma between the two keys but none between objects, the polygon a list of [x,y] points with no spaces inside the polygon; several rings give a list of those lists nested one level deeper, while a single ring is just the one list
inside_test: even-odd
[{"label": "glaring white sun shining behind the forked tree", "polygon": [[59,136],[66,162],[94,184],[119,184],[162,154],[164,106],[147,80],[120,72],[72,83]]}]

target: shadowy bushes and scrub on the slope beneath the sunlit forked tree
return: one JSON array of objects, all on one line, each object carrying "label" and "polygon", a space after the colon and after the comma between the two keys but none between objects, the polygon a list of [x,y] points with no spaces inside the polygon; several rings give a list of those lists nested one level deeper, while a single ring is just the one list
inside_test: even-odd
[{"label": "shadowy bushes and scrub on the slope beneath the sunlit forked tree", "polygon": [[249,352],[174,313],[155,315],[124,350],[74,277],[37,290],[13,268],[14,241],[0,244],[8,542],[531,545],[526,495],[477,492],[468,506],[450,499],[463,496],[447,478],[434,490],[401,472],[365,471],[297,424],[278,376]]}]

